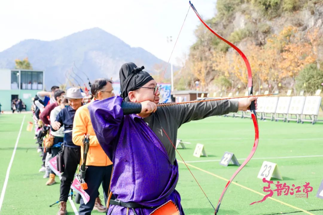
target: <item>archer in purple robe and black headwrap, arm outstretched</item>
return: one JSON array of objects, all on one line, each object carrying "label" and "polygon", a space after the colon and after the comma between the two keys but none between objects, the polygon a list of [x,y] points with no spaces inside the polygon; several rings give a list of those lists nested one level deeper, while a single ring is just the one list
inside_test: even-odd
[{"label": "archer in purple robe and black headwrap, arm outstretched", "polygon": [[157,107],[157,83],[142,69],[133,63],[123,64],[121,97],[97,100],[88,107],[98,141],[113,162],[112,193],[123,203],[140,206],[129,210],[110,204],[107,214],[126,214],[128,210],[128,214],[149,215],[172,200],[184,215],[175,190],[179,177],[175,148],[165,132],[176,142],[183,123],[246,110],[256,98]]}]

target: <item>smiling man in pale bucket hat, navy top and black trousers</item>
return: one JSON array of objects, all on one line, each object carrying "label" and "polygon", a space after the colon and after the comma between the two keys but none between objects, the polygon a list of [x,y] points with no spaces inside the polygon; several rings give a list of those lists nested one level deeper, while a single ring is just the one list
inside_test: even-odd
[{"label": "smiling man in pale bucket hat, navy top and black trousers", "polygon": [[51,129],[54,132],[63,125],[65,128],[63,146],[64,172],[62,173],[60,184],[60,208],[57,215],[67,213],[66,201],[68,199],[68,193],[81,158],[80,146],[75,145],[72,141],[72,129],[75,112],[82,106],[84,95],[82,95],[79,88],[72,87],[67,90],[64,97],[68,99],[69,106],[62,109],[57,114],[56,121],[51,124]]}]

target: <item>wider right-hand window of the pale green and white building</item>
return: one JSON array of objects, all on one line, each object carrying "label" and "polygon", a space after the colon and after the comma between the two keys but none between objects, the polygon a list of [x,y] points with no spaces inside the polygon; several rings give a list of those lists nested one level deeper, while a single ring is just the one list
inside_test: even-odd
[{"label": "wider right-hand window of the pale green and white building", "polygon": [[23,90],[42,90],[43,72],[21,71],[20,83]]}]

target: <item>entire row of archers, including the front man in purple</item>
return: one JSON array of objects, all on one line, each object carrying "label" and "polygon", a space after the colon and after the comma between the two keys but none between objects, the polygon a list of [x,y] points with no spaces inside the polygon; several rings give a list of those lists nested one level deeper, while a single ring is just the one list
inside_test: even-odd
[{"label": "entire row of archers, including the front man in purple", "polygon": [[[52,103],[56,102],[56,107],[60,103],[62,108],[57,112],[48,110],[51,106],[44,105],[45,98],[35,101],[35,106],[42,109],[38,111],[43,119],[40,121],[44,124],[42,133],[60,133],[60,136],[52,133],[57,139],[54,142],[63,141],[61,157],[64,171],[61,175],[58,215],[67,213],[66,201],[83,156],[82,139],[86,134],[90,137],[90,147],[85,182],[90,201],[87,204],[80,201],[79,214],[90,214],[93,208],[106,211],[98,198],[98,188],[102,183],[109,215],[184,215],[181,196],[175,189],[179,170],[172,144],[176,142],[179,127],[192,120],[246,111],[251,103],[257,106],[257,97],[249,97],[239,101],[158,107],[160,92],[157,82],[143,69],[143,66],[137,67],[134,63],[121,66],[120,96],[114,96],[112,82],[103,78],[95,80],[91,86],[93,98],[88,104],[82,103],[84,95],[79,88],[70,88],[66,94],[59,89],[52,92]],[[44,94],[39,93],[39,96]],[[49,105],[50,99],[47,98]],[[67,99],[67,103],[64,103],[64,99]],[[56,117],[51,117],[52,113]],[[46,122],[48,114],[49,122]],[[49,138],[46,136],[43,139]],[[49,156],[53,157],[53,151],[48,159]],[[46,158],[47,154],[44,154],[45,167]],[[55,180],[51,174],[50,179]]]}]

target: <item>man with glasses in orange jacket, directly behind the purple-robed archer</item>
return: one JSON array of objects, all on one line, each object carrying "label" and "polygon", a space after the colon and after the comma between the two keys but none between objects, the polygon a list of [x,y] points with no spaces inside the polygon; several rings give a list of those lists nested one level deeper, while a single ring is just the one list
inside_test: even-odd
[{"label": "man with glasses in orange jacket, directly behind the purple-robed archer", "polygon": [[[95,100],[103,100],[114,96],[112,81],[106,78],[95,80],[91,87],[91,93]],[[80,200],[79,214],[91,214],[93,209],[100,212],[106,212],[106,208],[101,204],[99,199],[99,187],[102,183],[104,200],[107,202],[109,184],[112,173],[112,162],[101,148],[95,132],[92,127],[88,104],[80,107],[74,117],[73,122],[73,143],[81,146],[81,156],[83,160],[83,142],[84,134],[89,134],[90,148],[86,160],[85,182],[88,189],[85,191],[89,194],[90,200],[84,204],[83,199]]]}]

